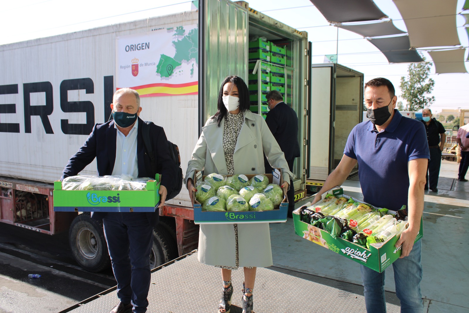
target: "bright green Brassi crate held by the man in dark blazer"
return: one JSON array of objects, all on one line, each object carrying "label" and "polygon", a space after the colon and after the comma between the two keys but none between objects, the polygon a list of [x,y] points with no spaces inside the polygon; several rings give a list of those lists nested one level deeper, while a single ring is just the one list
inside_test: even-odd
[{"label": "bright green Brassi crate held by the man in dark blazer", "polygon": [[154,212],[159,205],[160,175],[146,190],[62,190],[54,181],[54,211],[64,212]]}]

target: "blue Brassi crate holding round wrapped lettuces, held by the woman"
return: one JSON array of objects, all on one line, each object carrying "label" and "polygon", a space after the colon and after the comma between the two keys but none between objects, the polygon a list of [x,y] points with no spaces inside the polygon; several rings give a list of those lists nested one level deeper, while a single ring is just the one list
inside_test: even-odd
[{"label": "blue Brassi crate holding round wrapped lettuces, held by the woman", "polygon": [[[263,174],[269,179],[269,183],[283,184],[280,169],[274,169],[272,174]],[[225,175],[233,176],[233,175]],[[247,174],[248,179],[253,178],[256,174]],[[203,180],[202,172],[195,173],[194,186],[199,180]],[[212,212],[202,211],[202,204],[197,202],[195,193],[193,194],[194,202],[194,224],[243,224],[243,223],[278,223],[287,221],[288,199],[286,188],[283,190],[283,200],[280,206],[271,211],[223,211]]]}]

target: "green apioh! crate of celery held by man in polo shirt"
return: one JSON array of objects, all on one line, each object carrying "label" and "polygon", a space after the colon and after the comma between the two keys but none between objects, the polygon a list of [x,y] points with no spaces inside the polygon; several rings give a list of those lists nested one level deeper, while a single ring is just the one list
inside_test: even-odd
[{"label": "green apioh! crate of celery held by man in polo shirt", "polygon": [[[343,189],[340,187],[332,188],[322,195],[324,199],[327,194],[331,194],[338,197],[344,197],[350,199],[350,196],[344,195]],[[352,198],[355,202],[364,203],[363,201]],[[367,203],[365,203],[367,204]],[[394,235],[384,243],[374,243],[370,245],[370,249],[367,249],[359,244],[349,242],[340,237],[333,238],[332,235],[320,229],[309,225],[300,220],[300,209],[298,208],[293,211],[293,222],[295,224],[295,233],[305,239],[310,240],[313,243],[317,243],[320,246],[329,249],[333,252],[339,253],[340,255],[349,258],[363,266],[369,267],[379,273],[382,273],[386,267],[390,266],[395,260],[401,256],[401,247],[395,248],[398,236]],[[375,208],[378,209],[378,208]],[[394,214],[395,211],[388,211],[388,214]],[[306,234],[315,232],[314,238],[309,236],[306,238]],[[420,230],[415,239],[415,242],[423,236],[423,219],[420,220]]]}]

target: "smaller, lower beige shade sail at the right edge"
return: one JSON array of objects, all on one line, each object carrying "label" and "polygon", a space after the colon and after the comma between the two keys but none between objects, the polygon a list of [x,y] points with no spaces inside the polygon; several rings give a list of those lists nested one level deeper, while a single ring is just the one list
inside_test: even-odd
[{"label": "smaller, lower beige shade sail at the right edge", "polygon": [[435,72],[443,73],[467,73],[464,66],[464,49],[446,51],[430,51],[429,54],[435,63]]}]

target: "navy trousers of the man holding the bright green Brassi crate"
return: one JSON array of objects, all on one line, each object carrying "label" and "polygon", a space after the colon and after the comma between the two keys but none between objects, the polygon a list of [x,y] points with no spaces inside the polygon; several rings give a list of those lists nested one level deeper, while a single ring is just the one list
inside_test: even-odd
[{"label": "navy trousers of the man holding the bright green Brassi crate", "polygon": [[150,289],[153,225],[146,213],[140,212],[108,213],[103,225],[117,297],[123,303],[131,303],[134,313],[144,313]]}]

